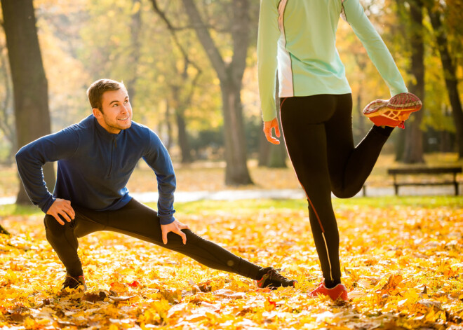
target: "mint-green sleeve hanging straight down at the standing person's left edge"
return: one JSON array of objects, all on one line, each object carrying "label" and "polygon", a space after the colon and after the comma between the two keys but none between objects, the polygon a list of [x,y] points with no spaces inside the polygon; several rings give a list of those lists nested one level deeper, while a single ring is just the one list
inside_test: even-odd
[{"label": "mint-green sleeve hanging straight down at the standing person's left edge", "polygon": [[257,78],[263,121],[271,121],[276,117],[276,56],[279,37],[276,1],[261,0],[257,33]]}]

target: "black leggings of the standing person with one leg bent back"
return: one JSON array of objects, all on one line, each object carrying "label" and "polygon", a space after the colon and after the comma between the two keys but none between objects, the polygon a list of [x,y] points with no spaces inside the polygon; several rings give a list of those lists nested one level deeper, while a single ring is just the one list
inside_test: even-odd
[{"label": "black leggings of the standing person with one leg bent back", "polygon": [[340,283],[339,232],[331,193],[350,198],[361,190],[392,128],[373,126],[354,147],[352,98],[314,95],[281,99],[288,155],[309,202],[309,219],[327,285]]}]

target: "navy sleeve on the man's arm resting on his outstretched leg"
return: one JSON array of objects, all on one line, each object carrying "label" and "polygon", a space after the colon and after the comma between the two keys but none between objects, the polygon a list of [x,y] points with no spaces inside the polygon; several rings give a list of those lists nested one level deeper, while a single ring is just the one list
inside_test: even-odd
[{"label": "navy sleeve on the man's arm resting on his outstretched leg", "polygon": [[170,224],[175,221],[173,202],[177,181],[169,153],[161,139],[152,130],[149,130],[149,146],[143,159],[154,170],[158,181],[158,216],[160,222],[162,225]]}]

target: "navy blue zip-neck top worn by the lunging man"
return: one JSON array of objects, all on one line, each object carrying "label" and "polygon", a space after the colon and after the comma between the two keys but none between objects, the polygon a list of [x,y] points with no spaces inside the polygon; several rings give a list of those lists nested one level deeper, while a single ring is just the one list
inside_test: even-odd
[{"label": "navy blue zip-neck top worn by the lunging man", "polygon": [[[56,198],[97,211],[120,209],[132,199],[126,184],[140,158],[156,174],[161,224],[170,224],[175,220],[172,160],[156,133],[145,125],[132,122],[130,128],[112,134],[92,114],[60,132],[36,139],[16,153],[27,195],[45,213]],[[57,160],[52,195],[43,181],[42,166]]]}]

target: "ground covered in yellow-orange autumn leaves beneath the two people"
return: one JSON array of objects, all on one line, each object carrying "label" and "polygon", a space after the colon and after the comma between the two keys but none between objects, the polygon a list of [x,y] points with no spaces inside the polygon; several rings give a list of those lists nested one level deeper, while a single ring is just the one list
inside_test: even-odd
[{"label": "ground covered in yellow-orange autumn leaves beneath the two people", "polygon": [[276,291],[102,232],[80,240],[88,290],[62,293],[42,214],[11,207],[1,221],[12,235],[0,235],[0,329],[463,329],[462,205],[335,200],[348,303],[308,296],[321,272],[302,201],[177,205],[196,233],[299,281]]}]

